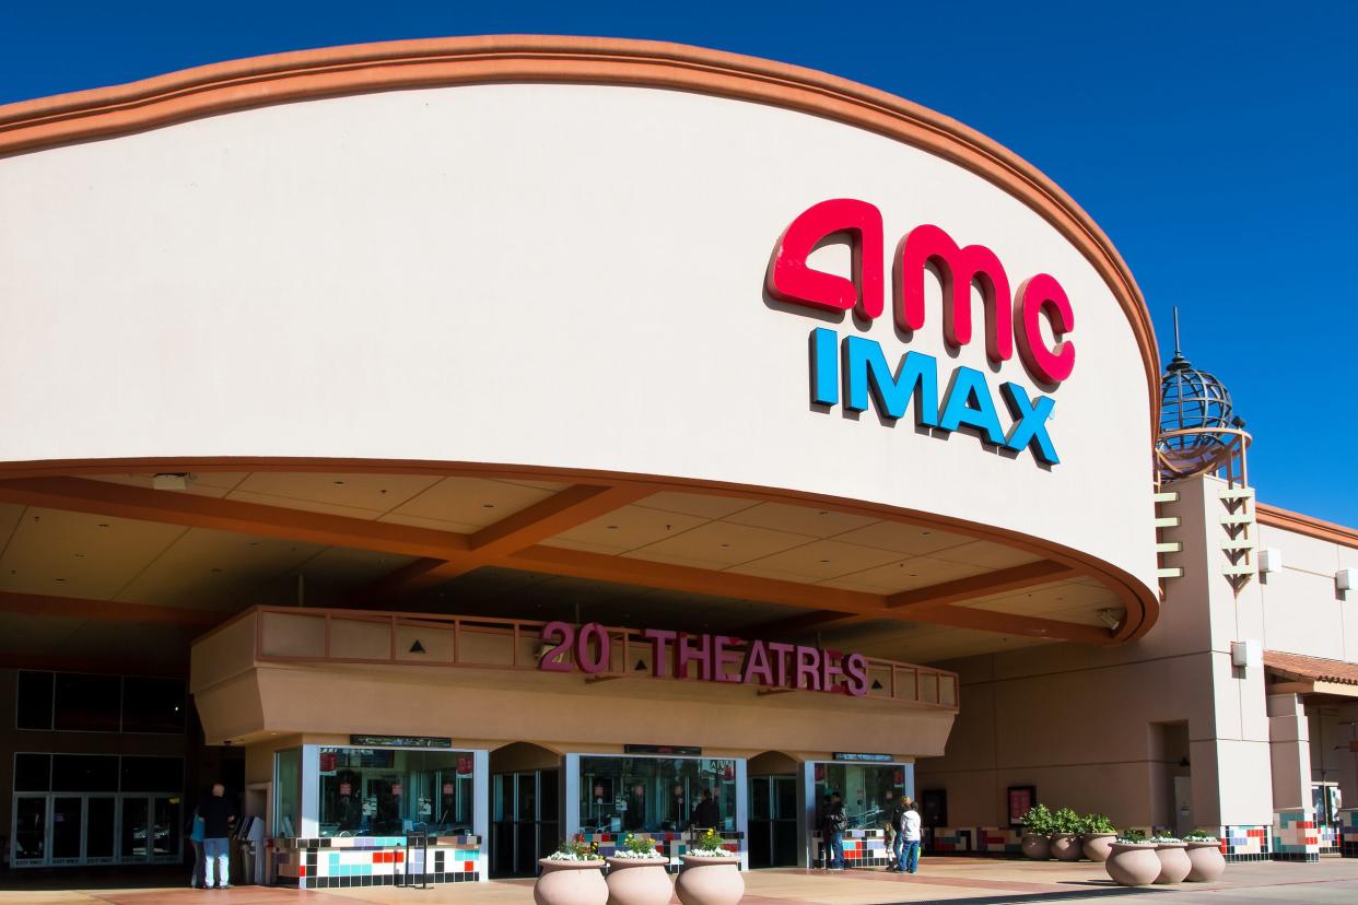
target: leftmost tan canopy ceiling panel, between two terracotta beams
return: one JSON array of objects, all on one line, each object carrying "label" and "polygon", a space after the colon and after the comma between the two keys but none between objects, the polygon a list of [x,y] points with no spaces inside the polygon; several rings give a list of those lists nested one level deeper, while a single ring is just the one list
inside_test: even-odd
[{"label": "leftmost tan canopy ceiling panel, between two terracotta beams", "polygon": [[0,556],[0,590],[109,600],[185,531],[30,506]]}]

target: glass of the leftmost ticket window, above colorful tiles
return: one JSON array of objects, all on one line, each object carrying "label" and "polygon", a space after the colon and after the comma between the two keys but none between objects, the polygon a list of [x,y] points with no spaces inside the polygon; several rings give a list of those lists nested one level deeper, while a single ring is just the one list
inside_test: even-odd
[{"label": "glass of the leftmost ticket window, above colorful tiles", "polygon": [[470,833],[471,752],[320,749],[320,834]]}]

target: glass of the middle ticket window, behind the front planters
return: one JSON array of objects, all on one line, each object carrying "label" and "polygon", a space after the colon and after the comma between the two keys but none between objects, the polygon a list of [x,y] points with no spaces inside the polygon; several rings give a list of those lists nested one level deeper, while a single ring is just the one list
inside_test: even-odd
[{"label": "glass of the middle ticket window, behind the front planters", "polygon": [[709,757],[581,757],[585,832],[736,828],[736,761]]}]

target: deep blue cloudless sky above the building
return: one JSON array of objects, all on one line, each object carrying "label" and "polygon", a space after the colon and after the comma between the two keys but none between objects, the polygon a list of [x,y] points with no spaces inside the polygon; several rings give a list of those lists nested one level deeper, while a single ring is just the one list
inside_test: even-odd
[{"label": "deep blue cloudless sky above the building", "polygon": [[[1046,171],[1255,434],[1260,498],[1358,525],[1358,3],[61,3],[0,12],[0,103],[280,50],[550,33],[784,60]],[[1128,412],[1141,418],[1142,412]]]}]

